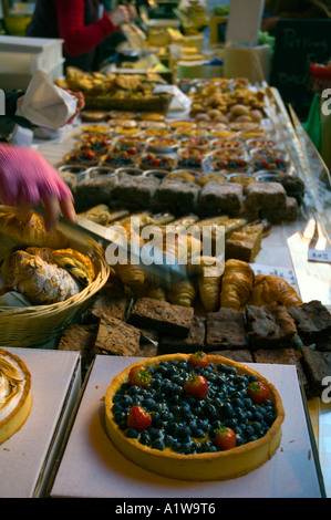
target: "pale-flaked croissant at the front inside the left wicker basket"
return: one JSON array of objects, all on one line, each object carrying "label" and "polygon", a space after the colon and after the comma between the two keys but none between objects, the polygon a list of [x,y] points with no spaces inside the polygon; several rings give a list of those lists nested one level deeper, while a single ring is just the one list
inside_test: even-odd
[{"label": "pale-flaked croissant at the front inside the left wicker basket", "polygon": [[62,302],[80,292],[68,271],[25,251],[14,253],[13,289],[38,305]]}]

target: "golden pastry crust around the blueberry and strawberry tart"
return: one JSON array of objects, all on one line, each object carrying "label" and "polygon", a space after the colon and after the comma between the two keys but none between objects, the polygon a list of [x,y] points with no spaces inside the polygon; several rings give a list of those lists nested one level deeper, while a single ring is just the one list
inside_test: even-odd
[{"label": "golden pastry crust around the blueberry and strawberry tart", "polygon": [[260,382],[268,386],[269,398],[276,410],[276,420],[263,437],[224,451],[184,455],[168,449],[162,451],[151,449],[136,439],[125,436],[113,418],[112,406],[114,395],[121,385],[128,381],[128,373],[132,366],[155,367],[162,361],[172,362],[173,360],[188,360],[188,355],[168,354],[142,360],[134,363],[134,365],[130,365],[114,377],[105,396],[105,427],[115,447],[131,461],[149,471],[183,480],[225,480],[236,478],[248,474],[269,460],[279,447],[281,439],[281,425],[285,419],[281,397],[276,387],[261,374],[241,363],[218,355],[209,355],[210,362],[215,365],[224,363],[227,366],[235,367],[238,374],[256,375]]}]

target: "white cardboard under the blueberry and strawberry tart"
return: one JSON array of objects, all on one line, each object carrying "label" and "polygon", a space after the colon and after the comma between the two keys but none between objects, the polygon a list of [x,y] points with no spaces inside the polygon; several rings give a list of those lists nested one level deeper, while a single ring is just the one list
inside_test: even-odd
[{"label": "white cardboard under the blueberry and strawberry tart", "polygon": [[[278,388],[286,419],[280,447],[260,468],[225,481],[161,477],[127,460],[104,427],[104,396],[113,377],[142,358],[96,356],[86,379],[51,497],[68,498],[321,498],[323,483],[296,367],[255,364]],[[248,366],[250,366],[248,364]]]}]

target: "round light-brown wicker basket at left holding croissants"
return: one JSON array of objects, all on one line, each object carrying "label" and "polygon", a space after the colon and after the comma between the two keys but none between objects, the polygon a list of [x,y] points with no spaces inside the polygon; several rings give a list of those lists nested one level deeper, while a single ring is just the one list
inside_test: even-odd
[{"label": "round light-brown wicker basket at left holding croissants", "polygon": [[86,249],[76,243],[69,243],[80,252],[87,254],[94,266],[95,279],[79,294],[50,305],[0,306],[0,337],[2,346],[33,347],[55,340],[90,303],[90,299],[106,283],[110,266],[104,250],[86,236]]}]

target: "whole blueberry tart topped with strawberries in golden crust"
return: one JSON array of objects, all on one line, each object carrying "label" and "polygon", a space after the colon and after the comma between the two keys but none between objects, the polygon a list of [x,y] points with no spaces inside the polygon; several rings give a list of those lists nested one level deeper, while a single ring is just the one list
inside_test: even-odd
[{"label": "whole blueberry tart topped with strawberries in golden crust", "polygon": [[[203,353],[200,357],[206,360]],[[192,354],[151,357],[114,377],[105,396],[105,427],[118,451],[152,472],[196,481],[239,477],[273,456],[285,419],[276,387],[256,371],[231,360],[210,355],[206,362],[207,368],[196,368],[201,392],[195,394],[197,397],[189,394]],[[254,382],[254,388],[259,388],[261,403],[251,409],[263,408],[260,428],[250,427],[244,402],[241,418],[232,420],[227,417],[235,413],[231,397],[217,399],[219,386],[229,385],[234,375],[242,392],[250,392],[248,386]],[[161,386],[165,392],[157,391]],[[153,399],[144,399],[137,408],[132,402],[133,387],[135,394],[143,392],[146,396],[149,388],[155,388]],[[177,399],[170,399],[169,392],[175,392]],[[220,439],[225,431],[231,439],[227,446]]]}]

